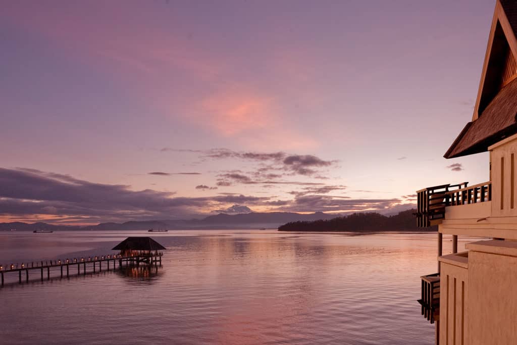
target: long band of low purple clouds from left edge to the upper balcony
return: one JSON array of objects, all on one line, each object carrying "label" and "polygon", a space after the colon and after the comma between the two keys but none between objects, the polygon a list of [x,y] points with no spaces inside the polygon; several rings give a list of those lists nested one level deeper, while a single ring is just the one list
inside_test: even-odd
[{"label": "long band of low purple clouds from left edge to the upper balcony", "polygon": [[[242,177],[239,173],[229,174],[235,174],[233,177],[245,181],[248,177]],[[278,181],[271,181],[265,185],[275,184],[298,184],[303,188],[292,193],[292,200],[237,193],[219,193],[216,196],[194,198],[179,197],[174,192],[151,189],[132,190],[131,186],[127,185],[93,183],[69,175],[35,169],[0,168],[0,218],[87,224],[199,217],[209,214],[210,210],[214,209],[240,213],[246,209],[233,206],[242,205],[268,211],[388,212],[400,204],[412,201],[411,195],[400,199],[352,199],[348,196],[329,194],[332,191],[346,189],[341,185]],[[198,187],[200,190],[206,190],[208,186]]]}]

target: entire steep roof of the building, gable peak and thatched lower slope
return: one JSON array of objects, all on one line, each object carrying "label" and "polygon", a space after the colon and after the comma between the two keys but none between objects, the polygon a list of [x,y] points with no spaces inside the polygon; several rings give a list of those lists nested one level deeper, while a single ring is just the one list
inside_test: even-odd
[{"label": "entire steep roof of the building, gable peak and thatched lower slope", "polygon": [[445,158],[487,151],[490,145],[517,133],[516,37],[517,1],[498,0],[473,121],[463,128]]}]

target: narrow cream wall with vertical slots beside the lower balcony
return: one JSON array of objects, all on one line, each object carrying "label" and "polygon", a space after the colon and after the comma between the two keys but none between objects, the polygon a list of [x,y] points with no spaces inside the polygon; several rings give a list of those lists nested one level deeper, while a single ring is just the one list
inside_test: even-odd
[{"label": "narrow cream wall with vertical slots beside the lower balcony", "polygon": [[441,266],[440,344],[468,344],[465,327],[468,271],[446,262]]}]

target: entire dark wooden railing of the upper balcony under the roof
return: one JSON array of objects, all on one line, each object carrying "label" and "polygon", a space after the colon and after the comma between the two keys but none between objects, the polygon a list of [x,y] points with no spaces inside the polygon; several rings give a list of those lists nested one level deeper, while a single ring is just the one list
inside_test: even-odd
[{"label": "entire dark wooden railing of the upper balcony under the roof", "polygon": [[417,191],[417,226],[427,228],[445,219],[445,207],[480,203],[492,200],[492,183],[467,186],[468,182],[456,185],[441,185]]}]

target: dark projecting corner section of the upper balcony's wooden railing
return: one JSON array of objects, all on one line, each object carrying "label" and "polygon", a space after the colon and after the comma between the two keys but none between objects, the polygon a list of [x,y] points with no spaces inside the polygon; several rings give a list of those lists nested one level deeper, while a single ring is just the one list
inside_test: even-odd
[{"label": "dark projecting corner section of the upper balcony's wooden railing", "polygon": [[448,203],[450,192],[467,187],[468,182],[457,185],[440,185],[427,187],[417,191],[417,226],[430,227],[433,220],[445,217],[445,206]]}]

